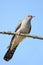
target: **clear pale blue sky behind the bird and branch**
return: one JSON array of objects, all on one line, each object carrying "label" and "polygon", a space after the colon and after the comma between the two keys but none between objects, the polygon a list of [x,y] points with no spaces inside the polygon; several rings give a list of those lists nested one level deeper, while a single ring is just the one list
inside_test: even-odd
[{"label": "clear pale blue sky behind the bird and branch", "polygon": [[[30,14],[36,16],[30,34],[43,36],[43,0],[0,0],[0,31],[14,31],[18,22]],[[0,34],[0,65],[43,65],[43,40],[32,38],[24,39],[6,62],[3,57],[11,38]]]}]

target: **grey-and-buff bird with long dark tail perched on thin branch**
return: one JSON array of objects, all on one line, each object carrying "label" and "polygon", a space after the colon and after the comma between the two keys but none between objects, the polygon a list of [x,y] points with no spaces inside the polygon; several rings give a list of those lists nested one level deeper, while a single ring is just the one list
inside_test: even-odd
[{"label": "grey-and-buff bird with long dark tail perched on thin branch", "polygon": [[[25,16],[23,18],[23,20],[21,20],[20,23],[17,25],[15,32],[17,32],[18,34],[20,34],[20,33],[29,34],[31,31],[31,20],[34,17],[35,16],[32,16],[32,15]],[[25,38],[26,37],[20,36],[20,35],[13,35],[10,45],[8,47],[8,50],[7,50],[6,54],[4,55],[5,61],[11,60],[19,43]]]}]

